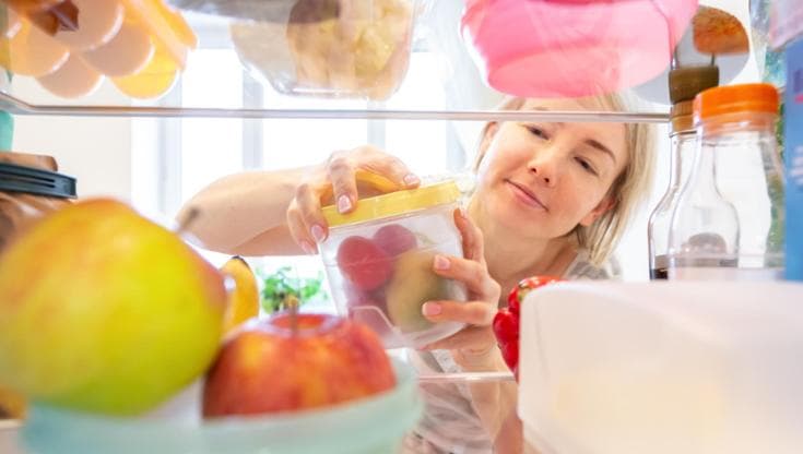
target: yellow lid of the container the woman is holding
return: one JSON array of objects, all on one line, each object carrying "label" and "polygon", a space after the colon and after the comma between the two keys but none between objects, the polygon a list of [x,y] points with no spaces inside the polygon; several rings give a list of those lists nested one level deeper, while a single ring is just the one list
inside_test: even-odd
[{"label": "yellow lid of the container the woman is holding", "polygon": [[341,214],[334,205],[324,206],[323,217],[330,227],[336,227],[453,203],[459,198],[460,191],[454,181],[444,181],[423,188],[361,199],[356,208],[347,214]]}]

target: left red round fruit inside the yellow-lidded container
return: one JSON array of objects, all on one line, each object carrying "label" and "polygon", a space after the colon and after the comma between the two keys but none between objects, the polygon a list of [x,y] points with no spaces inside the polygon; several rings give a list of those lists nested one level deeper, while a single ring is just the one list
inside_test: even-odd
[{"label": "left red round fruit inside the yellow-lidded container", "polygon": [[356,288],[370,291],[388,282],[393,263],[371,240],[349,237],[338,248],[338,267]]}]

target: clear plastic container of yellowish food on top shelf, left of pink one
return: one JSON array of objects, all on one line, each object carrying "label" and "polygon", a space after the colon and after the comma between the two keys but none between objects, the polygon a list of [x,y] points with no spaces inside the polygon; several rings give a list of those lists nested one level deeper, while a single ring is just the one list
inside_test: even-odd
[{"label": "clear plastic container of yellowish food on top shelf, left of pink one", "polygon": [[244,64],[280,93],[386,99],[408,70],[417,0],[300,0],[232,24]]}]

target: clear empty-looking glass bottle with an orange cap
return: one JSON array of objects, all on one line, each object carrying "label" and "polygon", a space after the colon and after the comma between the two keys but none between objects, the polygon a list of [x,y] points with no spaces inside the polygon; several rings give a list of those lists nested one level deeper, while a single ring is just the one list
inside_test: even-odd
[{"label": "clear empty-looking glass bottle with an orange cap", "polygon": [[709,88],[695,97],[699,142],[672,215],[670,279],[781,278],[783,239],[771,225],[783,218],[783,205],[769,195],[782,175],[778,98],[769,84]]}]

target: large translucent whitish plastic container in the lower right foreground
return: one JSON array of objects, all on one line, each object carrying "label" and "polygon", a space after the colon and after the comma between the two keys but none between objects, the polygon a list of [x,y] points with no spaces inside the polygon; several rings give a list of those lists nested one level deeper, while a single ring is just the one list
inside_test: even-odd
[{"label": "large translucent whitish plastic container in the lower right foreground", "polygon": [[803,285],[560,283],[521,304],[539,453],[796,454]]}]

